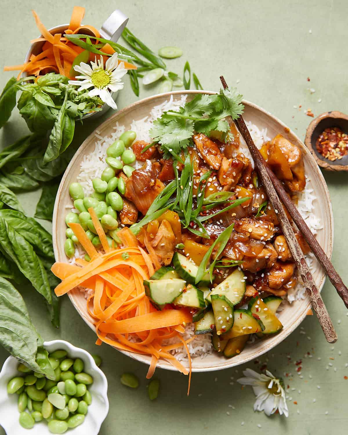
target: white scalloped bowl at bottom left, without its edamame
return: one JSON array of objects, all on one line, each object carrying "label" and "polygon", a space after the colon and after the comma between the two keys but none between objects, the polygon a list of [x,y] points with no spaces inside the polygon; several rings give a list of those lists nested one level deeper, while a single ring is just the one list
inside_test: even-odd
[{"label": "white scalloped bowl at bottom left, without its edamame", "polygon": [[[43,345],[48,353],[54,352],[57,349],[64,349],[71,358],[81,358],[84,361],[84,370],[94,379],[93,384],[88,387],[92,395],[92,403],[88,407],[88,412],[82,425],[69,429],[67,433],[71,432],[74,435],[97,435],[109,411],[107,379],[104,373],[97,367],[94,359],[87,351],[77,348],[67,341],[45,341]],[[31,432],[35,435],[49,435],[50,431],[46,421],[35,423],[31,432],[19,424],[18,395],[7,394],[8,381],[14,376],[18,376],[17,365],[17,359],[10,356],[4,362],[0,372],[0,425],[4,428],[7,435],[28,435]]]}]

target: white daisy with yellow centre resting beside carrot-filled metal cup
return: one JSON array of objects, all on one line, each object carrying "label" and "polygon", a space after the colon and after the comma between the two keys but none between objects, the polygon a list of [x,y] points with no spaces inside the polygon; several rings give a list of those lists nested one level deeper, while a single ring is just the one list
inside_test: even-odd
[{"label": "white daisy with yellow centre resting beside carrot-filled metal cup", "polygon": [[127,74],[124,68],[124,62],[118,64],[117,53],[114,53],[105,62],[100,56],[100,59],[94,58],[94,62],[90,62],[91,66],[81,62],[80,65],[75,65],[74,70],[83,75],[76,76],[80,80],[69,80],[69,84],[79,86],[78,90],[90,89],[88,95],[90,97],[99,96],[108,106],[117,109],[117,105],[111,97],[111,92],[123,89],[124,83],[121,82],[121,77]]}]

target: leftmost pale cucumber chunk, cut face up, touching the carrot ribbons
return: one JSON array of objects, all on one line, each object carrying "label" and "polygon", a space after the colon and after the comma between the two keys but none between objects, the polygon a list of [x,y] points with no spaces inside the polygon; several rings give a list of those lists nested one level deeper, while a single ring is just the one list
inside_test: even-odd
[{"label": "leftmost pale cucumber chunk, cut face up, touching the carrot ribbons", "polygon": [[144,281],[145,294],[162,308],[171,304],[184,291],[186,282],[183,279],[148,279]]}]

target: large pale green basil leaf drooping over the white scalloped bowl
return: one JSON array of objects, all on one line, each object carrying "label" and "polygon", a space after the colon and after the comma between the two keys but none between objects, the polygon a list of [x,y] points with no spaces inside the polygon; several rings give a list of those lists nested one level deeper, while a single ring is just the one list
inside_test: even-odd
[{"label": "large pale green basil leaf drooping over the white scalloped bowl", "polygon": [[43,340],[31,323],[23,298],[4,278],[0,278],[0,343],[33,371],[54,380]]}]

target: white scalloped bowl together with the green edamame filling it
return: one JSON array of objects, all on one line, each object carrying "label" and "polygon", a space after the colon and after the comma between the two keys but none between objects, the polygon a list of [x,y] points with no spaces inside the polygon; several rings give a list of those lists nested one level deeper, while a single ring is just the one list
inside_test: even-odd
[{"label": "white scalloped bowl together with the green edamame filling it", "polygon": [[[7,435],[97,435],[109,410],[107,380],[94,358],[67,341],[44,343],[56,381],[7,358],[0,372],[0,425]],[[88,428],[88,429],[87,429]]]}]

